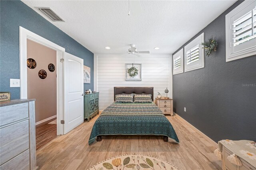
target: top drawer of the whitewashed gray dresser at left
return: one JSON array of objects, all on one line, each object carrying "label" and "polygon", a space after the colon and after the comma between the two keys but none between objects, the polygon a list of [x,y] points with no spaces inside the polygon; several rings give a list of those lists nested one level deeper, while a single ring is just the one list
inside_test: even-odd
[{"label": "top drawer of the whitewashed gray dresser at left", "polygon": [[3,106],[0,108],[0,126],[28,118],[28,103]]}]

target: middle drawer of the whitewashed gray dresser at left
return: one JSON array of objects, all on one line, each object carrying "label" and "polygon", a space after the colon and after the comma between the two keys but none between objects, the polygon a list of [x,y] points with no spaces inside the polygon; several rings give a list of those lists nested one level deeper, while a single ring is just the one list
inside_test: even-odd
[{"label": "middle drawer of the whitewashed gray dresser at left", "polygon": [[0,164],[29,148],[29,122],[25,120],[0,129]]}]

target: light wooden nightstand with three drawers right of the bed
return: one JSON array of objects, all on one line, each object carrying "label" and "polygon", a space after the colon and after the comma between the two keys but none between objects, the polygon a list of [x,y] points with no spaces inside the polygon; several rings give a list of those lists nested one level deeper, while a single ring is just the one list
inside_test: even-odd
[{"label": "light wooden nightstand with three drawers right of the bed", "polygon": [[163,114],[170,114],[173,116],[172,98],[156,98],[156,106],[160,108]]}]

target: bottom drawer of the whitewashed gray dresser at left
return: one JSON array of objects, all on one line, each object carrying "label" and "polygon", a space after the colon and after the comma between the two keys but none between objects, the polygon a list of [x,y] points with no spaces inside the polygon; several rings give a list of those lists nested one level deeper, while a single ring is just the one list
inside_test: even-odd
[{"label": "bottom drawer of the whitewashed gray dresser at left", "polygon": [[29,149],[0,166],[1,170],[29,170]]}]

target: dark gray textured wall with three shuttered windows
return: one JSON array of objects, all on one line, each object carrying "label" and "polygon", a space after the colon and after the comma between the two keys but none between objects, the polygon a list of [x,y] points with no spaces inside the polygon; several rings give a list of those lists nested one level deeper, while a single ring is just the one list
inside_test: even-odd
[{"label": "dark gray textured wall with three shuttered windows", "polygon": [[205,40],[211,36],[217,39],[217,52],[205,56],[204,68],[173,75],[174,112],[215,142],[256,141],[256,87],[243,86],[256,84],[256,56],[226,62],[225,15],[241,2],[236,2],[191,39],[202,32]]}]

